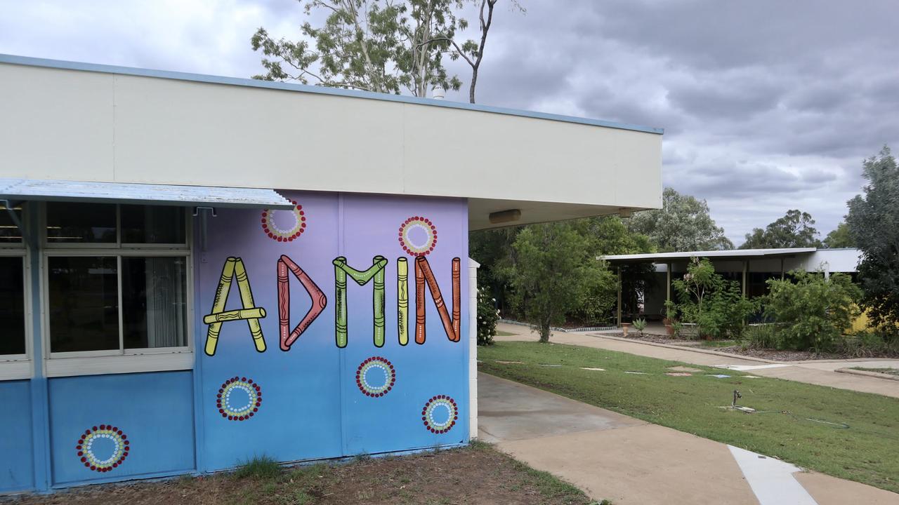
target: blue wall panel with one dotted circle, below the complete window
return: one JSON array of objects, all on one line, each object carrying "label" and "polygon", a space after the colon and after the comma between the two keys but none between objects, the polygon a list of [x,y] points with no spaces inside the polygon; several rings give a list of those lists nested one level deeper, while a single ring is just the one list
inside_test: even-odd
[{"label": "blue wall panel with one dotted circle, below the complete window", "polygon": [[[49,379],[53,483],[191,471],[195,466],[191,376],[191,372],[157,372]],[[93,445],[87,447],[88,442]],[[116,447],[122,449],[118,454]],[[90,463],[89,455],[99,463],[96,470],[81,461],[85,457]],[[97,471],[105,465],[111,466],[108,471]]]}]

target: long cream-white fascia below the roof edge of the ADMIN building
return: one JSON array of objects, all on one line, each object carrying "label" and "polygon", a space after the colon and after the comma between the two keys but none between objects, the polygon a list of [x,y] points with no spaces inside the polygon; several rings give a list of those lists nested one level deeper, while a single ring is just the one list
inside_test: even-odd
[{"label": "long cream-white fascia below the roof edge of the ADMIN building", "polygon": [[0,177],[463,197],[473,228],[661,207],[654,133],[10,63],[0,96]]}]

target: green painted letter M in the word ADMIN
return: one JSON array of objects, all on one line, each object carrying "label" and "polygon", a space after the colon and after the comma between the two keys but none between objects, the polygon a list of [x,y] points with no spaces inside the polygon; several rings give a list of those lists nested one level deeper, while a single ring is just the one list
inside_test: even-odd
[{"label": "green painted letter M in the word ADMIN", "polygon": [[334,339],[337,347],[346,347],[347,342],[347,307],[346,307],[346,276],[349,275],[360,286],[372,283],[372,315],[375,321],[374,341],[375,346],[384,346],[384,267],[387,266],[387,258],[375,256],[369,270],[360,271],[346,264],[346,258],[339,256],[334,258],[334,295],[337,306],[334,309]]}]

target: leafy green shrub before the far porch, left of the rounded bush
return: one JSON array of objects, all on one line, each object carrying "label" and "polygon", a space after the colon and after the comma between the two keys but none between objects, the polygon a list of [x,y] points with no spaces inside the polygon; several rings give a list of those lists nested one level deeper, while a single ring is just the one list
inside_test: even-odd
[{"label": "leafy green shrub before the far porch, left of the rounded bush", "polygon": [[722,278],[706,258],[690,258],[687,273],[672,280],[672,287],[680,300],[675,312],[695,323],[700,337],[738,338],[759,309],[756,300],[743,297],[739,282]]}]

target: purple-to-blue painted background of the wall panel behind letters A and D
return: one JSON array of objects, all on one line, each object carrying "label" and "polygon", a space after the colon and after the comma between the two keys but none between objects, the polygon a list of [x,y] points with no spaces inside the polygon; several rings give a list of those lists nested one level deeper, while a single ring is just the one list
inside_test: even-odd
[{"label": "purple-to-blue painted background of the wall panel behind letters A and D", "polygon": [[[201,354],[205,460],[210,470],[230,468],[254,456],[279,461],[342,456],[340,432],[340,351],[334,346],[334,312],[328,306],[290,350],[280,350],[277,265],[288,255],[313,279],[330,300],[334,290],[337,256],[337,196],[322,193],[283,192],[302,206],[306,226],[296,240],[279,242],[263,230],[262,211],[223,209],[209,220],[206,262],[200,263],[198,290],[201,319],[210,312],[220,273],[229,256],[245,265],[254,305],[266,316],[259,320],[266,350],[258,352],[245,321],[223,323],[215,355]],[[286,229],[294,223],[289,211],[277,211],[274,226]],[[292,273],[290,327],[299,323],[311,306],[306,290]],[[230,288],[226,309],[242,308],[236,283]],[[204,350],[206,324],[200,324],[196,348]],[[201,351],[202,352],[202,351]],[[218,391],[229,378],[252,379],[259,385],[262,403],[243,421],[227,419],[219,412]],[[243,381],[239,381],[243,382]],[[227,394],[224,392],[223,394]],[[237,387],[232,407],[246,403]],[[221,408],[221,410],[225,410]],[[233,416],[232,416],[233,417]]]}]

